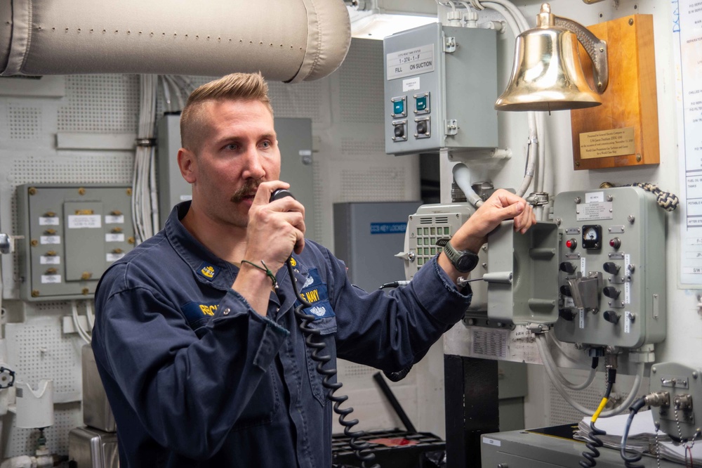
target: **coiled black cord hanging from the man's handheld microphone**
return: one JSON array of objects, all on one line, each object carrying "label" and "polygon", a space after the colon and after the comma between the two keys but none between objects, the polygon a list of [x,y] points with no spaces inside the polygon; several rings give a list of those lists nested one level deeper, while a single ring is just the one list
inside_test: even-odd
[{"label": "coiled black cord hanging from the man's handheld microphone", "polygon": [[347,401],[349,397],[346,395],[335,395],[335,392],[340,389],[343,384],[340,382],[331,382],[336,375],[336,368],[324,368],[324,365],[329,363],[331,360],[331,356],[329,356],[329,353],[322,354],[322,351],[324,351],[324,348],[326,348],[326,344],[320,340],[314,339],[322,334],[320,330],[315,330],[309,326],[309,324],[314,320],[314,317],[303,312],[303,308],[311,307],[312,304],[307,302],[298,290],[298,285],[295,282],[295,275],[293,275],[293,266],[290,263],[290,259],[288,259],[285,264],[288,268],[288,274],[290,275],[295,297],[298,299],[298,301],[300,301],[300,305],[295,308],[295,316],[300,320],[299,327],[305,335],[305,343],[310,347],[310,349],[312,349],[312,360],[317,362],[317,372],[319,372],[319,375],[324,376],[324,379],[322,379],[322,386],[328,390],[326,393],[326,398],[334,403],[333,409],[334,412],[339,415],[339,424],[344,427],[344,435],[350,438],[350,446],[356,457],[362,462],[362,467],[380,468],[380,465],[373,463],[376,460],[376,455],[369,452],[369,443],[359,440],[360,438],[364,437],[366,433],[364,431],[351,430],[352,427],[358,424],[358,420],[346,420],[348,415],[350,415],[353,411],[353,408],[340,408],[341,404]]}]

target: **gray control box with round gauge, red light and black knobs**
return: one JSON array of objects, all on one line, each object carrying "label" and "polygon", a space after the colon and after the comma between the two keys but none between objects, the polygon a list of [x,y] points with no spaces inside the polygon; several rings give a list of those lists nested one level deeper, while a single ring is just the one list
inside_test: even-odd
[{"label": "gray control box with round gauge, red light and black knobs", "polygon": [[664,215],[637,187],[556,196],[560,341],[635,349],[665,338]]}]

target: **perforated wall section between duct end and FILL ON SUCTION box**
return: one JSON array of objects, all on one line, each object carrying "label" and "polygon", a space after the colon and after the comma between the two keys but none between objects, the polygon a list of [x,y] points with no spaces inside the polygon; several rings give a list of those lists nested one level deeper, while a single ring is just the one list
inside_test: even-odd
[{"label": "perforated wall section between duct end and FILL ON SUCTION box", "polygon": [[383,124],[383,41],[352,39],[339,68],[341,120],[355,124]]}]

